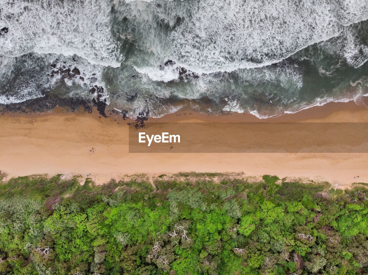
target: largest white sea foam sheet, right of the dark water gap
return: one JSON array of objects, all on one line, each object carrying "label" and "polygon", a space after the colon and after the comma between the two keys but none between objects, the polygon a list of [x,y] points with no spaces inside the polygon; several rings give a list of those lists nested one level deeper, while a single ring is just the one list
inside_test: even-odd
[{"label": "largest white sea foam sheet, right of the dark water gap", "polygon": [[[123,1],[119,11],[131,24],[143,26],[136,38],[153,53],[149,63],[157,79],[158,65],[166,59],[199,74],[280,62],[367,19],[368,1],[353,2]],[[158,23],[171,29],[160,31]]]}]

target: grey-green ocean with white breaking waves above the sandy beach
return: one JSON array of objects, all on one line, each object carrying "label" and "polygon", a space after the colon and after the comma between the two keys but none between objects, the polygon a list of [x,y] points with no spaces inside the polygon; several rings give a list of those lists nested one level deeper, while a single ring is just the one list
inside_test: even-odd
[{"label": "grey-green ocean with white breaking waves above the sandy beach", "polygon": [[[0,0],[0,107],[275,117],[368,95],[368,0]],[[37,107],[37,108],[36,108]]]}]

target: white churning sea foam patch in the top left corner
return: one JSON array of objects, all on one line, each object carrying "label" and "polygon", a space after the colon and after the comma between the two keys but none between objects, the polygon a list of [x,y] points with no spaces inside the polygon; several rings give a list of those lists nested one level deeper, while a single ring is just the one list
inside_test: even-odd
[{"label": "white churning sea foam patch in the top left corner", "polygon": [[0,55],[77,54],[92,64],[119,66],[106,0],[0,0]]}]

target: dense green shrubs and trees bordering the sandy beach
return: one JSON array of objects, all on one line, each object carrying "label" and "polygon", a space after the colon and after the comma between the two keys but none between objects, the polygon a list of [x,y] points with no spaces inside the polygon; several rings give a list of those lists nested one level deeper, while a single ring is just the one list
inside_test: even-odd
[{"label": "dense green shrubs and trees bordering the sandy beach", "polygon": [[364,186],[60,176],[0,185],[0,274],[368,272]]}]

